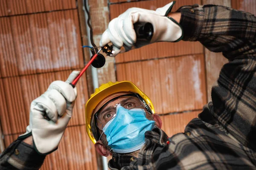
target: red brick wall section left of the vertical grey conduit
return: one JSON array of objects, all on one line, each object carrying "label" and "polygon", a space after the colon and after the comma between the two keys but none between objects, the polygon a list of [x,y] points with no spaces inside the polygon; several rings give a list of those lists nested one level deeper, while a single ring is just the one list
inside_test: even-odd
[{"label": "red brick wall section left of the vertical grey conduit", "polygon": [[[0,121],[6,147],[25,133],[32,100],[52,81],[64,81],[84,67],[78,16],[75,0],[1,0]],[[97,169],[96,152],[85,130],[85,75],[77,90],[73,117],[42,170]]]}]

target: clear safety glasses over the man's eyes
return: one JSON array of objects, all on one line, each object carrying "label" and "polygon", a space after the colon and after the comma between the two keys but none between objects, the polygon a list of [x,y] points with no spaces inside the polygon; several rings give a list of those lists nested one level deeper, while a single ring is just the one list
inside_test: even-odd
[{"label": "clear safety glasses over the man's eyes", "polygon": [[[108,105],[110,102],[117,100],[116,104]],[[134,109],[134,108],[145,108],[145,105],[137,96],[137,94],[125,94],[111,99],[105,103],[94,115],[96,126],[99,129],[103,127],[116,116],[116,106],[120,104],[125,109]]]}]

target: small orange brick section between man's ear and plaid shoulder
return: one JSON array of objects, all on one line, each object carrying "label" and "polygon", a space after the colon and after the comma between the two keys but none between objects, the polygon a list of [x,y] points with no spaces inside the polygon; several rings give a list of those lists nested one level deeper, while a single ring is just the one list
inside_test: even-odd
[{"label": "small orange brick section between man's ear and plaid shoulder", "polygon": [[165,131],[165,133],[169,137],[177,133],[184,133],[186,125],[193,118],[197,118],[199,113],[201,113],[201,111],[192,111],[160,116],[163,121],[162,130]]}]

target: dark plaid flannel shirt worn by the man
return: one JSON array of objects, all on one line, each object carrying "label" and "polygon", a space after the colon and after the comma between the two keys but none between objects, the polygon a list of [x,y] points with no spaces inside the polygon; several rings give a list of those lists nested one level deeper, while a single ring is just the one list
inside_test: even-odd
[{"label": "dark plaid flannel shirt worn by the man", "polygon": [[[114,153],[108,166],[112,170],[256,169],[256,17],[214,5],[183,6],[178,11],[183,40],[200,41],[229,59],[212,87],[212,102],[184,133],[168,138],[158,128],[147,131],[138,158]],[[16,148],[20,156],[15,155]],[[0,169],[38,169],[44,157],[27,149],[22,142],[11,144],[0,156]]]}]

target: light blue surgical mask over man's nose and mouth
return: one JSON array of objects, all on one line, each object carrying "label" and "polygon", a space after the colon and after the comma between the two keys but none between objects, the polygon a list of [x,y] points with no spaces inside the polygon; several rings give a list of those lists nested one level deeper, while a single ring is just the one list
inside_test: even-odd
[{"label": "light blue surgical mask over man's nose and mouth", "polygon": [[154,123],[146,118],[143,109],[128,110],[117,105],[116,116],[102,130],[107,136],[108,146],[113,152],[130,153],[143,146],[145,132],[152,130]]}]

